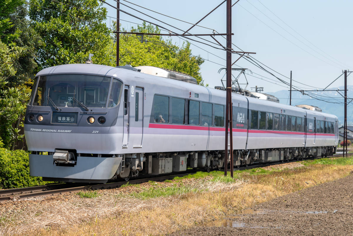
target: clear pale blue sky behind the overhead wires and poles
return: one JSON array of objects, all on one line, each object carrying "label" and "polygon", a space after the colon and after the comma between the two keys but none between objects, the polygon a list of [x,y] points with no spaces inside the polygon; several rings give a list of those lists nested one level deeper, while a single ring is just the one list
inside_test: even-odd
[{"label": "clear pale blue sky behind the overhead wires and poles", "polygon": [[[113,0],[106,1],[116,5]],[[128,1],[191,23],[196,23],[221,2],[221,0]],[[191,26],[133,6],[125,1],[121,0],[121,2],[177,28],[186,30]],[[234,3],[235,0],[232,0],[232,2]],[[353,70],[352,16],[349,12],[352,6],[353,1],[348,0],[240,0],[232,8],[232,31],[234,33],[232,42],[243,51],[256,52],[253,57],[275,71],[289,77],[292,70],[293,79],[296,81],[313,87],[324,88],[342,73],[342,69]],[[116,10],[107,5],[106,7],[108,8],[108,16],[116,17]],[[174,32],[182,33],[126,6],[121,6],[121,9],[140,18],[161,24]],[[120,13],[120,19],[124,28],[136,26],[134,23],[142,23],[141,20],[124,13]],[[107,24],[109,24],[109,17]],[[226,5],[220,6],[199,25],[215,29],[219,33],[226,33]],[[190,33],[210,34],[212,30],[195,26]],[[205,37],[205,39],[210,40],[210,37]],[[217,39],[225,44],[225,40],[221,36],[218,36]],[[178,37],[173,37],[173,40],[177,45],[183,43],[183,40]],[[206,59],[201,66],[201,74],[205,84],[208,83],[210,87],[220,85],[220,79],[224,73],[219,74],[217,72],[222,67],[221,65],[225,65],[225,60],[222,58],[225,58],[226,52],[201,43],[192,43],[195,44],[195,46],[191,46],[192,53]],[[234,47],[234,49],[236,48]],[[233,55],[232,60],[236,59],[237,55]],[[281,82],[276,81],[275,77],[248,63],[245,59],[240,59],[236,64],[240,67],[249,68],[253,72],[253,76],[259,77],[255,78],[247,75],[249,82],[247,89],[249,90],[255,85],[264,87],[264,92],[287,89],[277,85]],[[237,73],[233,75],[237,76]],[[289,82],[288,78],[277,76]],[[348,77],[348,85],[353,85],[350,82],[353,81],[353,74],[350,77]],[[271,82],[277,84],[260,78],[268,81],[274,79],[275,81]],[[244,83],[244,76],[239,81]],[[297,82],[293,82],[293,85],[310,88]],[[343,76],[331,87],[340,85],[343,85]]]}]

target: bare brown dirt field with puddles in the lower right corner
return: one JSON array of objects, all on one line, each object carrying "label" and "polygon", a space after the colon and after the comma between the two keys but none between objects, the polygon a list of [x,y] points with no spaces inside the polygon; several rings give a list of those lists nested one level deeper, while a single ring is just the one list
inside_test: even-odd
[{"label": "bare brown dirt field with puddles in the lower right corner", "polygon": [[180,235],[353,235],[353,175],[172,234]]}]

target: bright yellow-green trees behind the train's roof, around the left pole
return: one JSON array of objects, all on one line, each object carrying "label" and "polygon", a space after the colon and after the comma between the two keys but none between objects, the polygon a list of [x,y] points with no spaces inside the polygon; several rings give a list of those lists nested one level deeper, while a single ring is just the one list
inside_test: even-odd
[{"label": "bright yellow-green trees behind the train's roof, around the left pole", "polygon": [[[145,22],[143,22],[142,26],[137,26],[136,29],[133,27],[130,30],[122,28],[121,31],[161,33],[158,27],[155,28],[151,24],[146,25]],[[115,66],[115,49],[116,44],[114,43],[106,52],[106,54],[109,54],[109,57],[101,59],[100,64]],[[173,44],[171,37],[163,40],[161,36],[144,35],[142,39],[141,36],[120,34],[119,49],[120,65],[146,65],[180,71],[195,77],[198,84],[203,85],[199,70],[204,60],[200,56],[192,55],[189,42],[178,47]]]}]

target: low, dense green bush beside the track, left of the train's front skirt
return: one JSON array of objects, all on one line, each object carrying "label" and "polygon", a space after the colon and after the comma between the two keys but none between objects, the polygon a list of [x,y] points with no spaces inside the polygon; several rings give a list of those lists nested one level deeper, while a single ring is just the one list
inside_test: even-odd
[{"label": "low, dense green bush beside the track, left of the train's front skirt", "polygon": [[41,177],[29,175],[27,152],[0,148],[0,188],[23,188],[44,183]]}]

